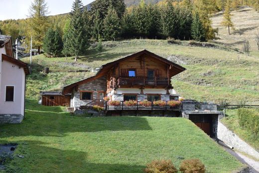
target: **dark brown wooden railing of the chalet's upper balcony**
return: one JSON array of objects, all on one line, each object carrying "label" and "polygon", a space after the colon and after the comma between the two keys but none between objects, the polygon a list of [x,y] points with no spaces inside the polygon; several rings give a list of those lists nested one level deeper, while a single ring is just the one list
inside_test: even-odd
[{"label": "dark brown wooden railing of the chalet's upper balcony", "polygon": [[118,85],[169,85],[168,78],[154,77],[152,79],[147,77],[120,77]]}]

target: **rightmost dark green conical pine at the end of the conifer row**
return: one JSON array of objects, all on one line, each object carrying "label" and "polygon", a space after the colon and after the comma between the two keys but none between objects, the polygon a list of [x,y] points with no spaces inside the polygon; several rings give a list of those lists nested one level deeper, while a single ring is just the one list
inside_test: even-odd
[{"label": "rightmost dark green conical pine at the end of the conifer row", "polygon": [[205,41],[205,31],[198,12],[195,12],[193,17],[191,35],[195,41]]}]

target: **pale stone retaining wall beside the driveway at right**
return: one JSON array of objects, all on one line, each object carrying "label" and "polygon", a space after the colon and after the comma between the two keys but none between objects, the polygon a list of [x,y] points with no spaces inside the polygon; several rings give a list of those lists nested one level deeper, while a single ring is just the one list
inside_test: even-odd
[{"label": "pale stone retaining wall beside the driveway at right", "polygon": [[259,159],[259,153],[245,141],[240,139],[234,132],[230,131],[221,122],[218,123],[218,139],[234,148]]}]

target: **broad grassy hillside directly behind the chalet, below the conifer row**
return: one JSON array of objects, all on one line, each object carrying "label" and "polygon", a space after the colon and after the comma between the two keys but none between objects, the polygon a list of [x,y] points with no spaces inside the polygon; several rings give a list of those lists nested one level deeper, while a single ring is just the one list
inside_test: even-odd
[{"label": "broad grassy hillside directly behind the chalet, below the conifer row", "polygon": [[[259,104],[259,59],[246,56],[232,49],[206,48],[169,44],[166,40],[124,40],[104,42],[105,50],[99,54],[88,50],[86,56],[74,63],[73,57],[47,58],[33,57],[33,73],[27,80],[27,97],[38,99],[40,90],[60,90],[64,85],[82,80],[93,72],[74,73],[70,69],[95,69],[131,53],[147,49],[187,68],[173,77],[172,84],[186,99],[213,101],[216,103],[247,102]],[[23,59],[29,62],[29,59]],[[44,67],[50,67],[45,75]],[[65,70],[65,71],[64,71]]]}]

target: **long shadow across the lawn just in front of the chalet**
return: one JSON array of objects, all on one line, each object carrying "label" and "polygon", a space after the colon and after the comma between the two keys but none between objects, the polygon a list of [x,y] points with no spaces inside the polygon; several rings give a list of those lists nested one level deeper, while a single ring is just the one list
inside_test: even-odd
[{"label": "long shadow across the lawn just in front of the chalet", "polygon": [[21,124],[2,125],[0,138],[11,136],[64,137],[74,132],[152,130],[143,117],[77,117],[62,107],[46,107],[26,100],[25,119]]}]

